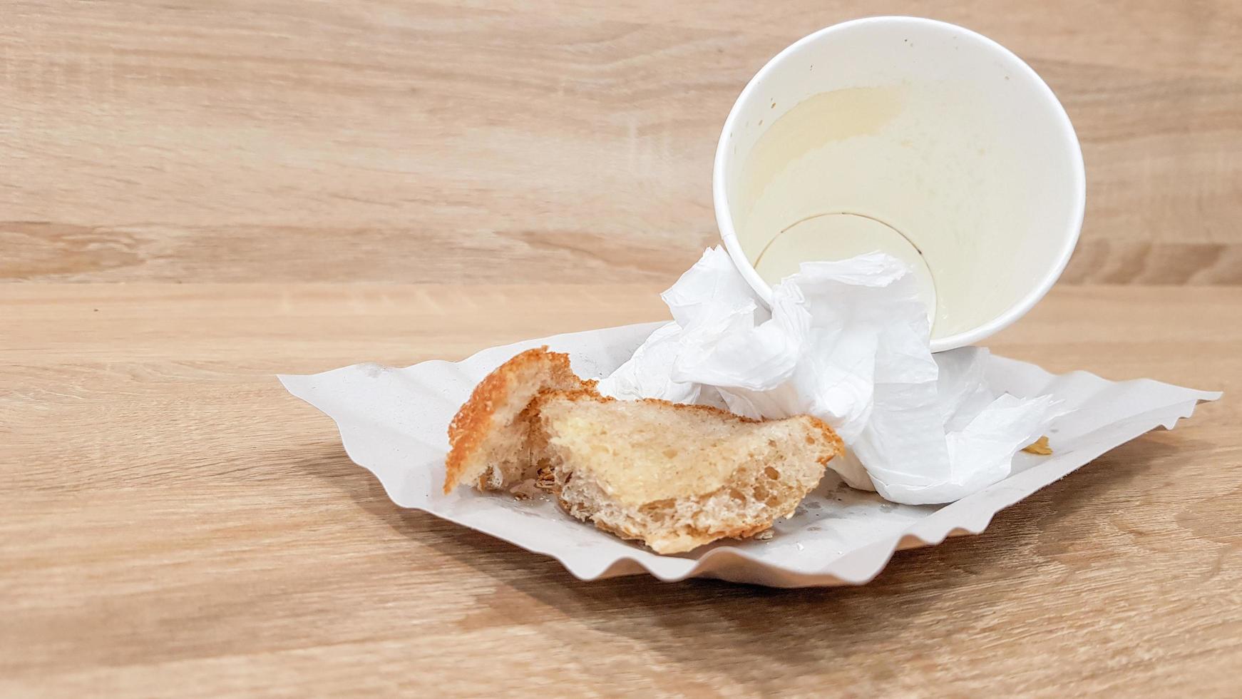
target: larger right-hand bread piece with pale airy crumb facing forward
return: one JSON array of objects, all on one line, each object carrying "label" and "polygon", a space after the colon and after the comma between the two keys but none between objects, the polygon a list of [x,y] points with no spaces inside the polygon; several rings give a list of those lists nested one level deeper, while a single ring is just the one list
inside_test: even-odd
[{"label": "larger right-hand bread piece with pale airy crumb facing forward", "polygon": [[545,392],[535,408],[533,453],[546,459],[561,507],[660,554],[769,529],[842,451],[807,415],[760,422],[594,391]]}]

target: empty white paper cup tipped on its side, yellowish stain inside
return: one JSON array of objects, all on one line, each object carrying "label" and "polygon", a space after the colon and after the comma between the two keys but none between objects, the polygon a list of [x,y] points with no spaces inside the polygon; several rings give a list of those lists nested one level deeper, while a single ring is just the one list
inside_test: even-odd
[{"label": "empty white paper cup tipped on its side, yellowish stain inside", "polygon": [[769,61],[729,112],[712,185],[724,245],[764,300],[799,262],[888,252],[920,281],[933,351],[1043,298],[1087,197],[1078,138],[1040,76],[917,17],[835,25]]}]

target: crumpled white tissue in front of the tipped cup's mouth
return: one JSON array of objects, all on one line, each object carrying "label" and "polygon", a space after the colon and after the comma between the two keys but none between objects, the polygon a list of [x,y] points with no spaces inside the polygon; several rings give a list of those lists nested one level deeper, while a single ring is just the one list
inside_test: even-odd
[{"label": "crumpled white tissue in front of the tipped cup's mouth", "polygon": [[888,255],[802,263],[773,289],[769,312],[714,247],[662,298],[673,322],[601,392],[814,415],[850,447],[830,466],[895,503],[948,503],[1001,480],[1062,415],[1051,396],[994,395],[986,349],[933,355],[914,276]]}]

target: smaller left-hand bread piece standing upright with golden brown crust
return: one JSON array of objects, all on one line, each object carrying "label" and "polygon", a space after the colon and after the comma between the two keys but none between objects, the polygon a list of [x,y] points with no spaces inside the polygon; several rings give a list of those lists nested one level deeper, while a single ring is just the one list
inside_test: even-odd
[{"label": "smaller left-hand bread piece standing upright with golden brown crust", "polygon": [[569,355],[527,350],[487,375],[448,425],[445,493],[458,483],[494,490],[534,477],[528,410],[539,391],[594,391],[569,368]]}]

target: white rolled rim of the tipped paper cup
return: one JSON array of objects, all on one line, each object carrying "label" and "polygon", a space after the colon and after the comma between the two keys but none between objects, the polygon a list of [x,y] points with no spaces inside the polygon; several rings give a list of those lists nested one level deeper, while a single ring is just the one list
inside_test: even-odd
[{"label": "white rolled rim of the tipped paper cup", "polygon": [[780,70],[780,67],[791,56],[797,53],[800,48],[809,43],[814,43],[823,40],[833,34],[853,29],[862,25],[872,24],[909,24],[920,25],[924,27],[934,27],[938,31],[948,31],[961,36],[964,38],[977,42],[985,48],[995,52],[1006,61],[1011,62],[1013,68],[1021,72],[1030,82],[1036,93],[1042,97],[1049,106],[1053,107],[1053,119],[1057,127],[1064,137],[1062,140],[1069,148],[1069,155],[1073,164],[1073,171],[1071,176],[1073,178],[1073,211],[1069,220],[1069,235],[1064,236],[1061,250],[1057,252],[1056,263],[1048,268],[1048,271],[1040,278],[1038,283],[1033,284],[1031,289],[1020,298],[1016,303],[1010,305],[1004,313],[992,318],[991,320],[976,325],[969,330],[963,330],[945,338],[938,338],[932,340],[932,351],[944,351],[960,346],[966,346],[977,343],[992,334],[1007,328],[1015,323],[1018,318],[1026,315],[1036,303],[1040,302],[1047,293],[1048,289],[1056,284],[1061,273],[1064,272],[1066,266],[1069,263],[1069,257],[1074,252],[1074,247],[1078,245],[1078,237],[1082,235],[1083,217],[1087,211],[1087,170],[1083,161],[1082,145],[1078,142],[1078,134],[1074,132],[1073,124],[1069,122],[1069,114],[1066,113],[1066,108],[1057,99],[1056,93],[1048,87],[1048,83],[1043,81],[1042,77],[1035,68],[1028,66],[1026,61],[1018,57],[1016,53],[1009,48],[1001,46],[996,41],[966,27],[954,25],[950,22],[944,22],[940,20],[930,20],[927,17],[910,17],[900,15],[883,15],[874,17],[862,17],[857,20],[850,20],[840,22],[832,26],[823,27],[818,31],[811,32],[802,38],[795,41],[794,43],[786,46],[780,53],[773,56],[764,67],[759,68],[750,82],[741,89],[738,94],[738,99],[733,103],[733,108],[729,110],[729,115],[724,120],[724,127],[720,129],[720,139],[717,142],[715,148],[715,160],[712,168],[712,202],[715,209],[715,221],[720,230],[720,238],[724,241],[724,247],[729,252],[729,257],[733,259],[738,271],[741,272],[743,278],[746,283],[759,294],[765,304],[771,303],[771,286],[768,284],[755,271],[754,264],[746,258],[745,253],[741,251],[741,245],[738,242],[738,233],[733,227],[733,216],[729,211],[729,200],[725,186],[725,170],[730,163],[730,145],[732,134],[735,129],[735,124],[740,118],[740,112],[744,104],[748,104],[753,98],[754,93],[759,89],[759,84]]}]

